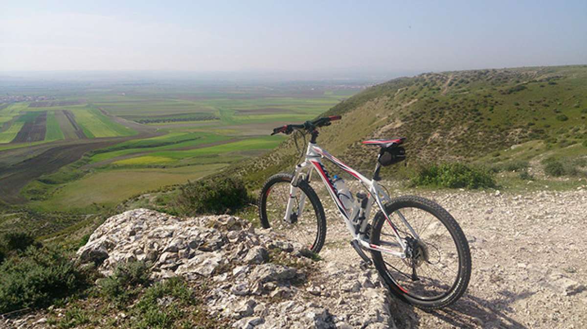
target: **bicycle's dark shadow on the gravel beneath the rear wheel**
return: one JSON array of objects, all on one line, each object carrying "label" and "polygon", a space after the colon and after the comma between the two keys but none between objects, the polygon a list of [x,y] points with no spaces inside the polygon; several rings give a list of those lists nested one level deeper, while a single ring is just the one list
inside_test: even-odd
[{"label": "bicycle's dark shadow on the gravel beneath the rear wheel", "polygon": [[467,293],[453,305],[437,311],[423,311],[390,296],[389,308],[398,329],[420,328],[420,325],[422,328],[443,327],[442,323],[456,328],[528,328],[507,316],[507,313],[514,311],[512,303],[535,292],[522,291],[518,294],[502,290],[496,293],[500,296],[491,300]]}]

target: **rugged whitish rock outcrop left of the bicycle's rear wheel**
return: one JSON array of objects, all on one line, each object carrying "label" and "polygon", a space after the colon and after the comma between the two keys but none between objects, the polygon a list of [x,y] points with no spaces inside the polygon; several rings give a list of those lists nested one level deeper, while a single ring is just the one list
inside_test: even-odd
[{"label": "rugged whitish rock outcrop left of the bicycle's rear wheel", "polygon": [[234,216],[179,218],[149,209],[110,217],[77,252],[106,275],[140,260],[155,280],[205,280],[208,312],[235,328],[395,327],[376,274],[302,254],[298,243]]}]

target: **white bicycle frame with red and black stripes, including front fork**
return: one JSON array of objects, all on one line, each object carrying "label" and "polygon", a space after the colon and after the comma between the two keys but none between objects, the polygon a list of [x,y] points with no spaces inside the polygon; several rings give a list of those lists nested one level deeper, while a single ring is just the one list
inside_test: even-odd
[{"label": "white bicycle frame with red and black stripes, including front fork", "polygon": [[[350,218],[350,213],[348,209],[345,209],[343,203],[340,201],[340,198],[338,197],[338,192],[336,191],[335,186],[332,184],[332,180],[330,179],[328,173],[322,165],[322,158],[328,159],[330,162],[337,165],[343,171],[348,172],[352,177],[362,182],[362,184],[369,191],[369,196],[367,196],[369,198],[369,201],[367,202],[365,212],[363,213],[365,219],[363,219],[363,221],[360,223],[360,228],[358,230],[356,229],[355,224],[353,224],[356,218]],[[380,164],[377,163],[377,166],[379,165]],[[375,181],[375,179],[366,178],[365,176],[360,174],[360,172],[357,172],[355,171],[355,169],[350,168],[348,165],[344,164],[342,161],[338,160],[333,155],[330,155],[326,150],[323,150],[315,143],[308,143],[308,149],[306,150],[305,160],[301,164],[296,165],[294,178],[292,179],[291,187],[289,190],[289,200],[284,215],[284,221],[289,221],[292,209],[294,209],[295,198],[298,194],[297,186],[299,179],[308,179],[308,181],[310,181],[312,171],[314,169],[322,178],[322,182],[326,186],[326,189],[328,190],[330,197],[336,203],[340,217],[343,219],[343,221],[345,221],[346,227],[349,230],[350,235],[353,237],[353,239],[357,240],[360,246],[362,246],[364,249],[376,250],[378,252],[387,253],[389,255],[397,256],[400,258],[407,257],[406,241],[400,237],[399,233],[397,232],[396,226],[393,224],[392,220],[390,219],[390,216],[384,210],[385,208],[383,206],[383,202],[390,201],[389,195],[387,195],[384,189],[382,189],[379,186],[379,184],[377,184],[377,181]],[[299,207],[297,213],[298,218],[302,216],[304,203],[305,194],[302,194],[299,199]],[[374,203],[376,203],[379,209],[381,209],[383,216],[385,216],[386,222],[389,223],[390,226],[392,226],[397,242],[382,241],[380,245],[374,245],[373,243],[370,243],[367,240],[365,233],[362,233],[366,232],[365,230],[367,228],[367,223],[369,222],[369,213]],[[413,235],[413,238],[420,239],[417,233],[414,231],[414,229],[406,221],[406,218],[404,218],[402,213],[400,213],[399,211],[396,211],[394,213],[396,213],[397,217],[399,217],[400,220],[404,223],[404,225],[406,225],[406,227],[410,230],[410,233]],[[359,216],[359,213],[357,213],[356,216]],[[399,252],[396,250],[391,250],[388,249],[387,246],[400,247],[402,251]]]}]

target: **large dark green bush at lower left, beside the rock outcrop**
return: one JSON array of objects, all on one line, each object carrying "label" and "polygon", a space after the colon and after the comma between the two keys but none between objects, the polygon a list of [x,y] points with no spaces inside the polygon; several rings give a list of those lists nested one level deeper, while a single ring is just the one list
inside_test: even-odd
[{"label": "large dark green bush at lower left, beside the rock outcrop", "polygon": [[0,265],[0,313],[47,306],[85,287],[86,278],[60,250],[29,246]]}]

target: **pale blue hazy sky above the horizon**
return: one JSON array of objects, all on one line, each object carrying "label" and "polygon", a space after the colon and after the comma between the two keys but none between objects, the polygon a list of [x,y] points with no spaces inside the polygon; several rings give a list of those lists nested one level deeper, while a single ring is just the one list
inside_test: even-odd
[{"label": "pale blue hazy sky above the horizon", "polygon": [[0,0],[0,71],[587,63],[586,0],[50,2]]}]

